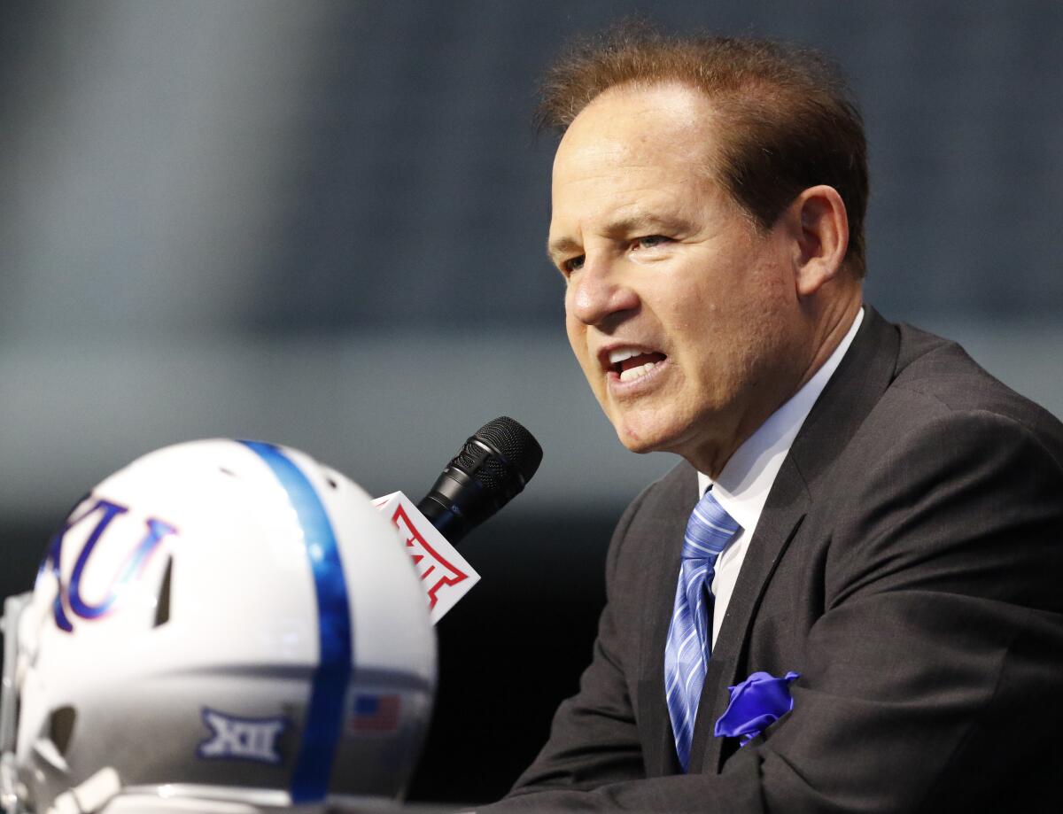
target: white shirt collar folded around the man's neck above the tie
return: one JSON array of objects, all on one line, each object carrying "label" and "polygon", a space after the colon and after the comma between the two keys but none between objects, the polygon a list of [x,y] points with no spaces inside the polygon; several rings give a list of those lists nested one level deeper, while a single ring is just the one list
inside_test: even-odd
[{"label": "white shirt collar folded around the man's neck above the tie", "polygon": [[838,370],[862,321],[863,308],[827,361],[735,451],[715,481],[703,472],[697,473],[698,496],[711,486],[721,507],[742,526],[746,535],[753,533],[797,431]]}]

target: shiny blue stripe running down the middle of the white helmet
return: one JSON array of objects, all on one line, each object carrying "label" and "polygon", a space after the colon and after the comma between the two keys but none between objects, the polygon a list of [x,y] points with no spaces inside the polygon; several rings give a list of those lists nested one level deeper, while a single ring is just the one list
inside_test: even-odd
[{"label": "shiny blue stripe running down the middle of the white helmet", "polygon": [[343,724],[343,698],[351,678],[351,606],[343,564],[328,513],[306,475],[281,450],[241,441],[260,457],[288,492],[306,543],[318,600],[320,660],[314,674],[306,723],[291,775],[292,803],[323,800],[328,792]]}]

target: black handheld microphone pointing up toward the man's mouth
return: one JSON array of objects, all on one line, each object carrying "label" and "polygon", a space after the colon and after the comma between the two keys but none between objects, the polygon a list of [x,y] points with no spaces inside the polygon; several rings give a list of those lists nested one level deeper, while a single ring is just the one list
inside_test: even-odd
[{"label": "black handheld microphone pointing up toward the man's mouth", "polygon": [[489,421],[436,479],[417,508],[452,545],[521,493],[542,447],[506,416]]}]

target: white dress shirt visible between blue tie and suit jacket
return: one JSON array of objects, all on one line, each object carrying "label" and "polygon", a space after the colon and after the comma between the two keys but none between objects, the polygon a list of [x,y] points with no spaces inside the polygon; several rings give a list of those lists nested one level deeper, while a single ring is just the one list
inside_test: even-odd
[{"label": "white dress shirt visible between blue tie and suit jacket", "polygon": [[727,603],[735,591],[746,549],[750,543],[756,542],[757,523],[764,510],[767,493],[797,437],[797,430],[834,374],[845,352],[849,350],[862,321],[863,308],[823,367],[735,451],[716,480],[703,472],[697,473],[698,498],[711,486],[716,501],[742,527],[716,558],[716,573],[712,579],[712,595],[715,597],[712,611],[713,645],[727,611]]}]

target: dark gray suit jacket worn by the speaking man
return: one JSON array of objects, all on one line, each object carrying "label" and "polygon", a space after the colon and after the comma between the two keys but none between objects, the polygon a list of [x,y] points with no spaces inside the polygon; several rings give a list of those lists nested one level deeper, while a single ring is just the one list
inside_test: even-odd
[{"label": "dark gray suit jacket worn by the speaking man", "polygon": [[[622,518],[593,661],[500,809],[1063,811],[1056,419],[867,308],[767,498],[679,775],[663,654],[695,482],[680,464]],[[740,749],[713,724],[755,671],[800,678]]]}]

